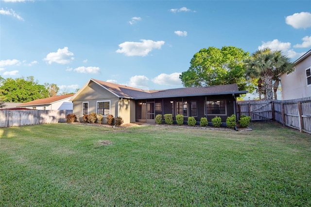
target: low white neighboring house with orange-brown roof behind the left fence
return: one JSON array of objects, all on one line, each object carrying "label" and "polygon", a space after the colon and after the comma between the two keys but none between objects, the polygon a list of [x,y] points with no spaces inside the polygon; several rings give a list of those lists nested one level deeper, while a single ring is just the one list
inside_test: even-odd
[{"label": "low white neighboring house with orange-brown roof behind the left fence", "polygon": [[37,99],[31,102],[22,103],[16,107],[32,108],[38,110],[72,110],[72,102],[69,99],[74,94],[52,96],[45,99]]}]

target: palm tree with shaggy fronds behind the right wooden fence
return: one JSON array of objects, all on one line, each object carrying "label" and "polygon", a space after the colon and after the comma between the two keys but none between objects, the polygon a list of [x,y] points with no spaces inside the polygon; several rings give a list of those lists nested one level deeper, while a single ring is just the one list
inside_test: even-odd
[{"label": "palm tree with shaggy fronds behind the right wooden fence", "polygon": [[[274,96],[276,98],[279,76],[292,68],[293,64],[288,57],[282,55],[281,51],[272,51],[269,48],[254,52],[246,61],[246,74],[260,79],[267,101],[273,100]],[[275,91],[274,86],[277,86]]]}]

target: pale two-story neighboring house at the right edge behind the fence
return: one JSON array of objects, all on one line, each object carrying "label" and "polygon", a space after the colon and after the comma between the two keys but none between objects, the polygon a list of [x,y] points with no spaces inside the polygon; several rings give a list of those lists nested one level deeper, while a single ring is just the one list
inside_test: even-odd
[{"label": "pale two-story neighboring house at the right edge behind the fence", "polygon": [[282,99],[311,97],[311,50],[294,62],[294,71],[281,75]]}]

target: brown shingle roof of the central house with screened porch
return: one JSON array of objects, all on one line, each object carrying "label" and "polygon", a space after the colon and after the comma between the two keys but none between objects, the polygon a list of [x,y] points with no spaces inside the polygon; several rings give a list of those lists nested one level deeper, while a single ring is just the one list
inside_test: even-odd
[{"label": "brown shingle roof of the central house with screened porch", "polygon": [[225,94],[240,95],[247,93],[247,91],[239,91],[237,84],[223,86],[183,87],[165,90],[142,90],[135,87],[123,86],[96,79],[90,79],[87,84],[70,99],[70,101],[73,101],[74,98],[80,93],[80,91],[82,91],[91,81],[98,84],[99,86],[102,86],[117,97],[127,99],[154,99]]}]

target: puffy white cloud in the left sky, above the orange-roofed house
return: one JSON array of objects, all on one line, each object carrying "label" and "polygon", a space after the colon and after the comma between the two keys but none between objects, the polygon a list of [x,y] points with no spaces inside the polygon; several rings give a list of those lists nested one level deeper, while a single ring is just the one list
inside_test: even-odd
[{"label": "puffy white cloud in the left sky, above the orange-roofed house", "polygon": [[68,47],[64,47],[63,49],[58,49],[57,52],[50,52],[43,60],[48,61],[49,64],[52,64],[52,62],[68,64],[74,59],[71,56],[73,56],[73,53],[68,50]]}]

